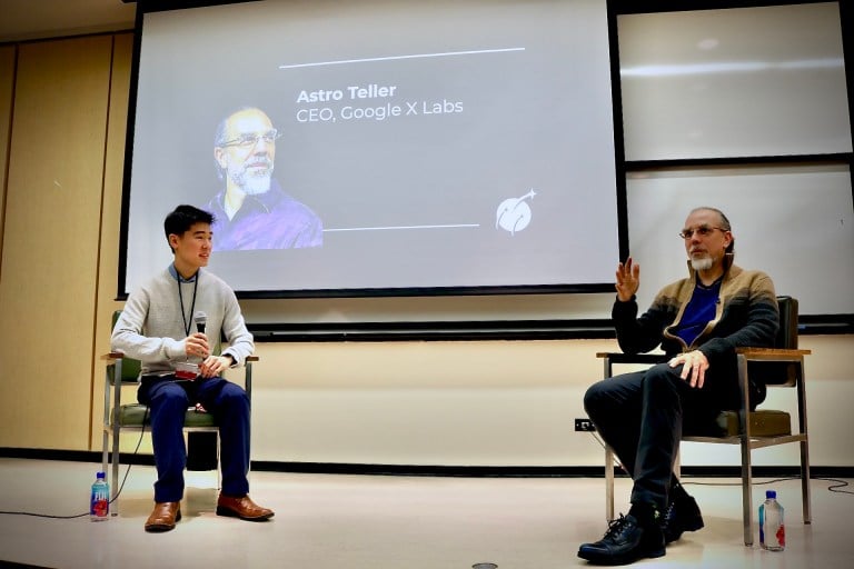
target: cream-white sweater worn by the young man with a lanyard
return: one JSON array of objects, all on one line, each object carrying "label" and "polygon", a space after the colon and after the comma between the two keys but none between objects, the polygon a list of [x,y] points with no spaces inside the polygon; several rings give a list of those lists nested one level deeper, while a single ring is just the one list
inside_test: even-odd
[{"label": "cream-white sweater worn by the young man with a lanyard", "polygon": [[[246,357],[255,351],[255,342],[246,328],[235,292],[212,272],[199,269],[196,273],[198,289],[193,307],[196,281],[181,279],[179,284],[170,269],[163,269],[128,297],[112,329],[112,349],[140,360],[142,373],[171,371],[173,363],[180,361],[198,363],[200,358],[188,358],[186,355],[185,319],[190,333],[193,333],[197,331],[193,313],[202,311],[208,317],[205,333],[211,348],[225,335],[229,346],[222,350],[222,355],[231,355],[235,366],[242,366]],[[179,286],[185,318],[181,318]]]}]

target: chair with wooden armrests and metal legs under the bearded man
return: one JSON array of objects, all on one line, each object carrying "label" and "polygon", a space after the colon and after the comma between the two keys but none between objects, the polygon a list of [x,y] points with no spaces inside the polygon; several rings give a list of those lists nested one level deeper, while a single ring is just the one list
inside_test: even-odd
[{"label": "chair with wooden armrests and metal legs under the bearded man", "polygon": [[[712,442],[718,445],[738,445],[742,450],[742,517],[744,521],[744,545],[753,545],[753,468],[751,452],[754,449],[797,442],[801,446],[801,493],[803,500],[804,523],[811,523],[810,499],[810,450],[806,427],[806,389],[804,376],[804,356],[810,350],[797,348],[797,300],[792,297],[777,297],[779,305],[779,331],[774,348],[739,348],[738,386],[742,393],[741,408],[736,411],[723,411],[709,432],[703,436],[684,433],[682,440]],[[605,378],[614,376],[615,363],[655,365],[665,361],[656,353],[610,353],[596,355],[604,360]],[[755,378],[767,388],[794,388],[797,397],[797,431],[792,432],[792,418],[788,412],[774,409],[755,409],[751,406],[749,379]],[[606,517],[614,519],[614,452],[605,450],[605,491]]]}]

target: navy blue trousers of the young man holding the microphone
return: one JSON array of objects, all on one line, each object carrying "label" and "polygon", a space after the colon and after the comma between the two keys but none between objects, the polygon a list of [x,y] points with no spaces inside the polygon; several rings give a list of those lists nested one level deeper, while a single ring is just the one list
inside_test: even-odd
[{"label": "navy blue trousers of the young man holding the microphone", "polygon": [[222,493],[240,497],[249,492],[249,397],[224,378],[172,381],[143,378],[137,392],[149,407],[151,442],[157,466],[156,502],[177,502],[183,497],[187,446],[183,417],[187,408],[201,403],[219,425]]}]

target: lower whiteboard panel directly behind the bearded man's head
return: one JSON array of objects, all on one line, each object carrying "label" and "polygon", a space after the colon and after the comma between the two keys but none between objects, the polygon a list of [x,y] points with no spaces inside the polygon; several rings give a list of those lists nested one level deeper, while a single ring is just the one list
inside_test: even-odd
[{"label": "lower whiteboard panel directly behind the bearded man's head", "polygon": [[854,204],[846,166],[671,169],[629,174],[629,251],[640,263],[638,302],[687,274],[678,237],[688,211],[726,213],[735,262],[767,272],[802,315],[854,313]]}]

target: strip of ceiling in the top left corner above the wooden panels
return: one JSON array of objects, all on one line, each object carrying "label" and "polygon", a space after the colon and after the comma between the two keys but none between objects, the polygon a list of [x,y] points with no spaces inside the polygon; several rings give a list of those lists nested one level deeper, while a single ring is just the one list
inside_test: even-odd
[{"label": "strip of ceiling in the top left corner above the wooden panels", "polygon": [[122,0],[0,0],[0,43],[129,30],[136,10]]}]

